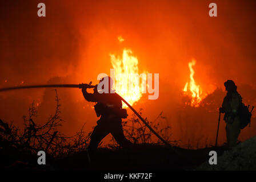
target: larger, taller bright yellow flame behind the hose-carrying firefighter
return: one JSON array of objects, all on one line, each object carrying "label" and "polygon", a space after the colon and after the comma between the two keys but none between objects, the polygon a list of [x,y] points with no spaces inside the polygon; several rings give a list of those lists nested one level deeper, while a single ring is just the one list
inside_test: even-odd
[{"label": "larger, taller bright yellow flame behind the hose-carrying firefighter", "polygon": [[[119,40],[120,41],[120,40]],[[123,49],[122,57],[110,53],[111,64],[115,69],[115,91],[130,105],[142,96],[138,80],[138,59],[130,49]],[[123,107],[127,107],[123,104]]]}]

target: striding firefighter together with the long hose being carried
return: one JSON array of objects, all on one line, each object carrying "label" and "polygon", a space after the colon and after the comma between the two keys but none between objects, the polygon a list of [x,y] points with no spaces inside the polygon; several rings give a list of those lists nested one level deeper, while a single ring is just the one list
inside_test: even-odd
[{"label": "striding firefighter together with the long hose being carried", "polygon": [[[103,83],[102,83],[103,82]],[[107,82],[107,84],[105,84]],[[122,109],[122,101],[134,112],[135,115],[146,125],[147,128],[160,139],[166,146],[170,147],[176,154],[177,151],[171,146],[169,142],[163,139],[150,125],[141,117],[141,115],[118,93],[112,89],[113,80],[110,77],[103,77],[99,81],[102,85],[102,90],[98,90],[98,85],[90,84],[53,84],[53,85],[26,85],[26,86],[13,86],[8,88],[0,88],[0,92],[7,92],[9,90],[19,89],[35,89],[35,88],[79,88],[82,89],[83,96],[89,102],[97,102],[94,106],[97,117],[101,117],[97,121],[97,126],[94,128],[90,137],[89,153],[93,154],[97,150],[99,142],[111,133],[117,143],[122,147],[131,147],[134,144],[125,138],[122,128],[122,118],[127,118],[126,109]],[[107,87],[104,88],[104,86]],[[88,93],[87,88],[94,88],[94,93]],[[107,91],[106,91],[107,90]],[[106,91],[106,92],[105,92]]]}]

